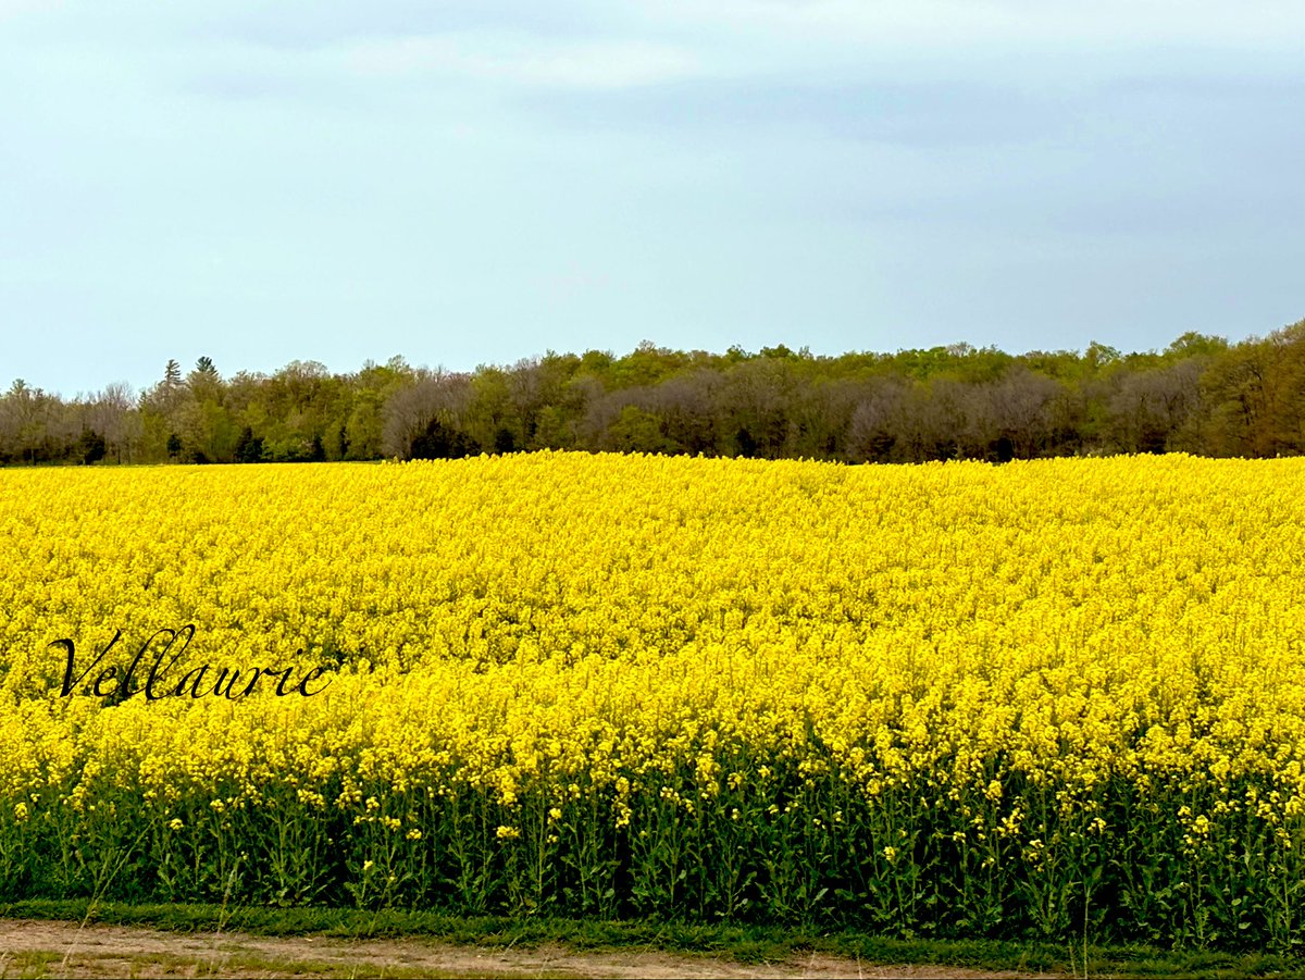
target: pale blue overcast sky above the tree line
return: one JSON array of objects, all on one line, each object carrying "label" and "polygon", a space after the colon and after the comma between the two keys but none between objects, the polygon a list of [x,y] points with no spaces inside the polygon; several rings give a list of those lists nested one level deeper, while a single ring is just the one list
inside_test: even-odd
[{"label": "pale blue overcast sky above the tree line", "polygon": [[1300,0],[0,0],[0,385],[1305,317]]}]

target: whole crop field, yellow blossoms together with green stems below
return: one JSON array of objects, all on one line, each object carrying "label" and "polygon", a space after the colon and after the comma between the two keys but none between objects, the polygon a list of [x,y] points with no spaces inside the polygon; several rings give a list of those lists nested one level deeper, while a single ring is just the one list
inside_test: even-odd
[{"label": "whole crop field, yellow blossoms together with green stems below", "polygon": [[1305,933],[1305,459],[7,470],[0,530],[0,899]]}]

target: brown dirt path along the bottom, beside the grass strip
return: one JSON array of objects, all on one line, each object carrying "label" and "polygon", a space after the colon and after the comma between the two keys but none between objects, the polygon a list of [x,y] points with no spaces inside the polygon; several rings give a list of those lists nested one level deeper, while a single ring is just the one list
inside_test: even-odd
[{"label": "brown dirt path along the bottom, beside the grass strip", "polygon": [[0,920],[0,977],[997,977],[1035,976],[936,966],[859,963],[823,954],[741,964],[709,955],[491,949],[422,938],[338,940],[172,933],[121,925]]}]

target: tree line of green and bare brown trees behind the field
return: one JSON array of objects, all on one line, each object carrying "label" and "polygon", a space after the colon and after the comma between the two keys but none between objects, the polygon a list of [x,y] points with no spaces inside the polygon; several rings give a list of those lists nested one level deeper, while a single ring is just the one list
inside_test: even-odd
[{"label": "tree line of green and bare brown trees behind the field", "polygon": [[292,361],[223,377],[176,360],[134,393],[0,395],[0,463],[454,458],[534,449],[860,462],[1305,452],[1305,320],[1163,351],[1005,354],[967,343],[813,356],[641,343],[474,372],[402,358],[330,373]]}]

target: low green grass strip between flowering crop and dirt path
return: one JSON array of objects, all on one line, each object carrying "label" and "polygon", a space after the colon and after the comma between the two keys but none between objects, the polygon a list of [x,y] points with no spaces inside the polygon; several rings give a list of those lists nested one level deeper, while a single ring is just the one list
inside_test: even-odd
[{"label": "low green grass strip between flowering crop and dirt path", "polygon": [[342,938],[425,937],[482,947],[545,943],[576,951],[660,951],[714,954],[743,963],[776,963],[822,953],[868,963],[933,963],[979,970],[1018,970],[1065,976],[1126,977],[1305,977],[1305,957],[1173,951],[1146,946],[1088,946],[1071,950],[1041,942],[989,940],[903,940],[856,932],[818,932],[754,925],[685,925],[568,919],[452,917],[433,912],[331,908],[221,907],[205,904],[31,900],[0,904],[0,917],[90,920],[149,925],[175,932],[221,928],[257,936]]}]

